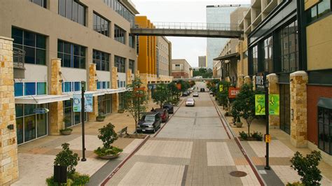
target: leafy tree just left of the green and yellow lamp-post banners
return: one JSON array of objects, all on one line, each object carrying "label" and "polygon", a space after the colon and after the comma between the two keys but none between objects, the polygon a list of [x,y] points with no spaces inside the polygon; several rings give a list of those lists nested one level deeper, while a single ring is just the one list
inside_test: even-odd
[{"label": "leafy tree just left of the green and yellow lamp-post banners", "polygon": [[244,118],[248,126],[248,136],[250,137],[250,125],[252,120],[256,118],[255,115],[255,91],[252,85],[244,84],[241,87],[240,93],[237,94],[233,103],[233,107],[239,111],[239,115]]}]

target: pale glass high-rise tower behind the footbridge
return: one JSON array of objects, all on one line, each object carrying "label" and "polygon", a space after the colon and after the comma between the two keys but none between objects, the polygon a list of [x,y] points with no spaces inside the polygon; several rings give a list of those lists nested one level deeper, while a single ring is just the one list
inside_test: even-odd
[{"label": "pale glass high-rise tower behind the footbridge", "polygon": [[[249,5],[230,4],[207,6],[207,27],[230,27],[230,13],[236,8]],[[213,69],[213,59],[219,57],[227,38],[207,38],[207,68]]]}]

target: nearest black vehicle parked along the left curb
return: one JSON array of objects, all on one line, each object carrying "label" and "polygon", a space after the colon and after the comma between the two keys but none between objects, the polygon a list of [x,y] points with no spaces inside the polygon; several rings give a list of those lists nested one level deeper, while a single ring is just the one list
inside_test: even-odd
[{"label": "nearest black vehicle parked along the left curb", "polygon": [[160,128],[161,118],[159,112],[144,113],[137,124],[137,132],[151,131],[155,133]]}]

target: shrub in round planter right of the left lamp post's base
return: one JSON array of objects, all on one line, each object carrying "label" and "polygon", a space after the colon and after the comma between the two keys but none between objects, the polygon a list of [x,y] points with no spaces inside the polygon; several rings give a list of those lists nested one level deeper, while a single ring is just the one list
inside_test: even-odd
[{"label": "shrub in round planter right of the left lamp post's base", "polygon": [[111,145],[118,139],[118,135],[116,134],[116,131],[114,131],[114,125],[111,123],[106,124],[104,127],[98,129],[98,131],[98,138],[103,142],[103,146],[97,148],[94,152],[102,159],[113,159],[118,157],[123,150]]}]

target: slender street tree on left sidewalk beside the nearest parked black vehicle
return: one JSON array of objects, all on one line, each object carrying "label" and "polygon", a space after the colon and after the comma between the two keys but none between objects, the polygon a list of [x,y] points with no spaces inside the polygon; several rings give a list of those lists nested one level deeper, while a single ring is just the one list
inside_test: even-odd
[{"label": "slender street tree on left sidewalk beside the nearest parked black vehicle", "polygon": [[146,87],[141,87],[141,80],[134,78],[132,84],[127,85],[127,91],[125,92],[125,110],[135,120],[135,131],[137,129],[137,122],[139,121],[140,113],[146,112],[148,96],[146,94]]}]

